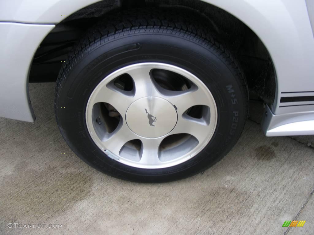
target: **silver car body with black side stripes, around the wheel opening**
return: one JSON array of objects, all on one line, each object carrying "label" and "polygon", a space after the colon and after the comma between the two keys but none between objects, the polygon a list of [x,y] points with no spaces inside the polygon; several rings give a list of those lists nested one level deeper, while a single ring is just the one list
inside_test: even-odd
[{"label": "silver car body with black side stripes, around the wheel opening", "polygon": [[[314,134],[314,1],[203,1],[240,19],[269,51],[276,74],[276,96],[273,105],[266,106],[262,123],[265,134]],[[98,1],[0,2],[1,117],[34,122],[28,77],[38,46],[57,23],[95,2]]]}]

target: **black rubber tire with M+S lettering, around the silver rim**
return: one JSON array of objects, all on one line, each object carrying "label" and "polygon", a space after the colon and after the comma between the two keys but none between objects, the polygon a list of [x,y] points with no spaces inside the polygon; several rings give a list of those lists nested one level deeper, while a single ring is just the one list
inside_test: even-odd
[{"label": "black rubber tire with M+S lettering, around the silver rim", "polygon": [[[57,79],[55,114],[62,136],[84,162],[132,181],[177,180],[214,165],[234,146],[244,128],[248,92],[234,57],[197,16],[170,10],[136,10],[101,20],[68,55]],[[209,144],[192,159],[163,169],[140,169],[108,157],[91,139],[87,101],[108,74],[133,63],[166,62],[190,71],[211,91],[218,121]],[[61,108],[65,107],[65,108]]]}]

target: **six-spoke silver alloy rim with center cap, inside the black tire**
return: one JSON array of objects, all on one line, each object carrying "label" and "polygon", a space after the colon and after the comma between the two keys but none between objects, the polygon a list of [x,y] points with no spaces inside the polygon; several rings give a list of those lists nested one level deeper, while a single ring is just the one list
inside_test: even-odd
[{"label": "six-spoke silver alloy rim with center cap, inside the black tire", "polygon": [[[182,91],[165,89],[154,79],[153,70],[176,73],[191,86]],[[114,85],[125,74],[133,80],[130,91]],[[112,131],[101,109],[104,103],[119,114]],[[201,116],[189,115],[194,106],[201,107]],[[187,70],[138,63],[112,72],[96,86],[85,118],[91,138],[110,158],[132,167],[158,169],[181,164],[208,144],[217,124],[217,107],[204,83]]]}]

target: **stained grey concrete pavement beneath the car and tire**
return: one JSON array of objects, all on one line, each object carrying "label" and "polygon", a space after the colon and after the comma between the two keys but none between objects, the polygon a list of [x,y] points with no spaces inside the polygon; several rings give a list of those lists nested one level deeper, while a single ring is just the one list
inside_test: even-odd
[{"label": "stained grey concrete pavement beneath the car and tire", "polygon": [[[185,180],[139,184],[73,154],[55,122],[53,91],[52,83],[30,84],[35,123],[0,118],[0,234],[314,234],[314,138],[265,137],[258,102],[218,164]],[[287,229],[285,220],[306,223]]]}]

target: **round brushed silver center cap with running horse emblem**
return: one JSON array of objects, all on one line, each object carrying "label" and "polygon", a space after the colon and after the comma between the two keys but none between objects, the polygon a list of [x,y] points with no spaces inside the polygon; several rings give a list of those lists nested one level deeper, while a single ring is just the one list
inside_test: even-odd
[{"label": "round brushed silver center cap with running horse emblem", "polygon": [[137,135],[157,138],[171,132],[178,115],[175,107],[160,97],[143,97],[127,109],[127,126]]}]

